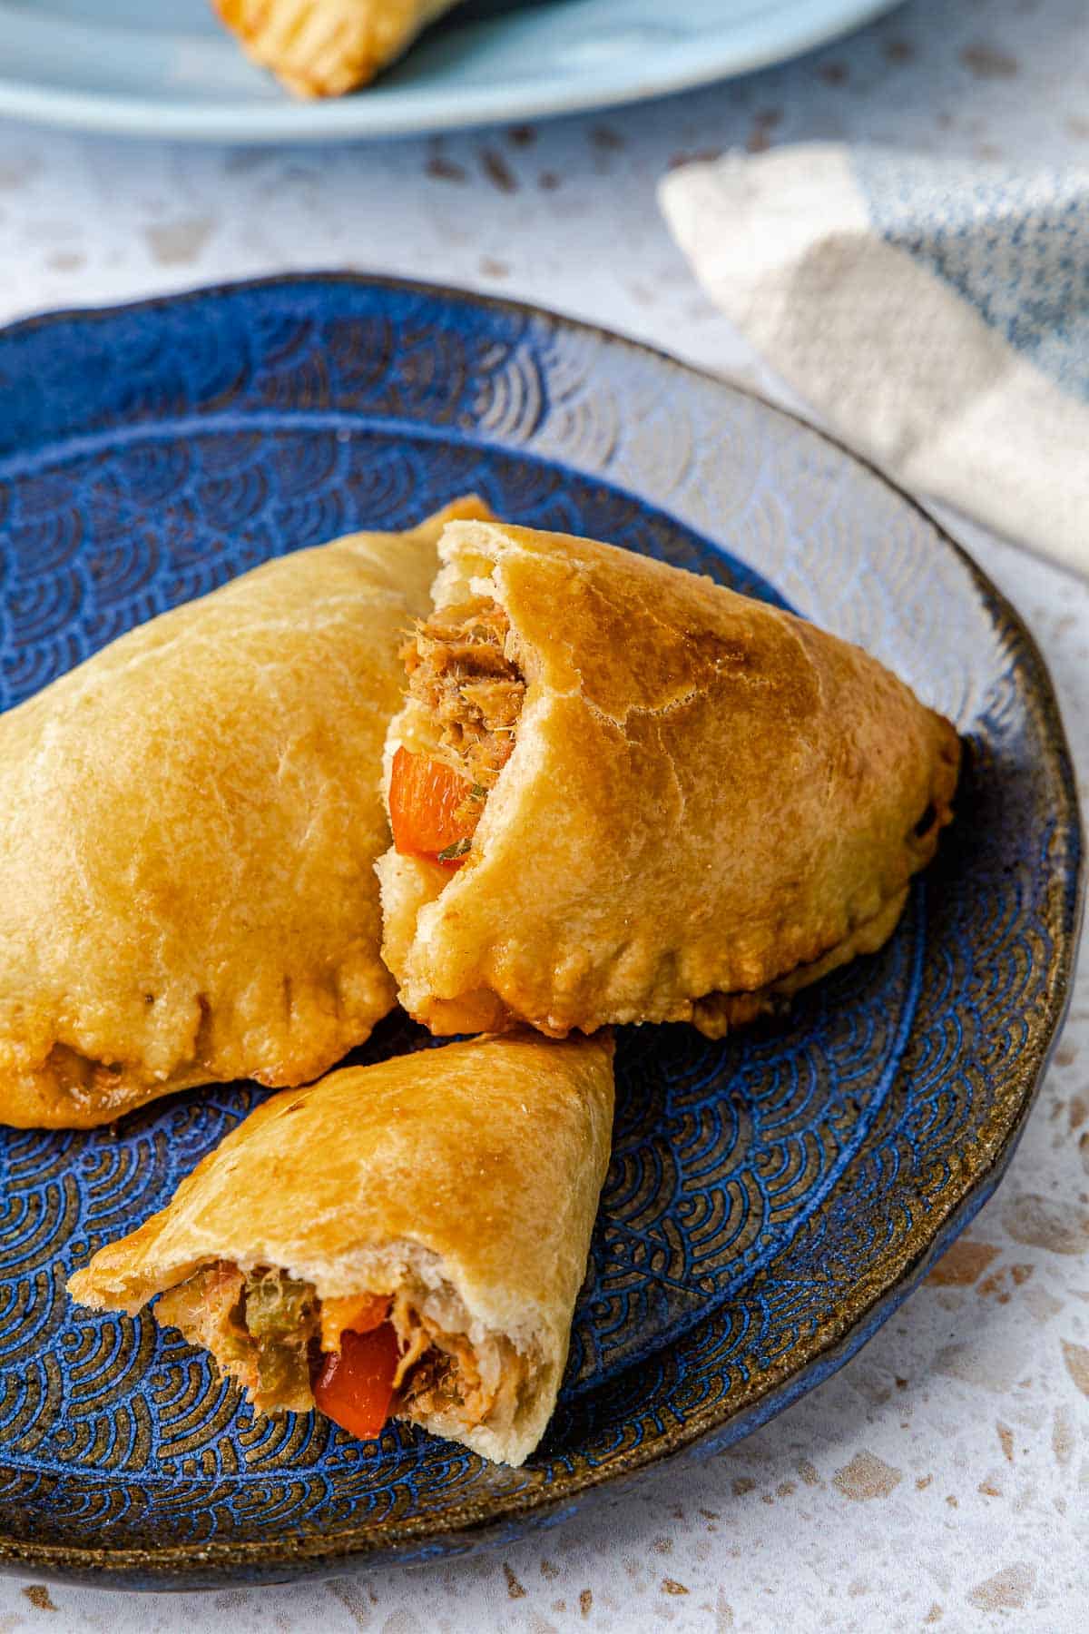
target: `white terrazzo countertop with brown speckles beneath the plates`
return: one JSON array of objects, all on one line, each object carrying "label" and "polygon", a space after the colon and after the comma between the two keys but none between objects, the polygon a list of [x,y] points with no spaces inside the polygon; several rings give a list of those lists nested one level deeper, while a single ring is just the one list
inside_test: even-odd
[{"label": "white terrazzo countertop with brown speckles beneath the plates", "polygon": [[[469,284],[776,382],[696,289],[653,186],[805,137],[1089,158],[1086,0],[914,0],[787,69],[651,106],[291,152],[0,126],[0,320],[287,268]],[[1089,525],[1089,523],[1087,523]],[[1089,770],[1089,585],[953,525],[1051,665]],[[327,1585],[119,1596],[0,1580],[23,1629],[1089,1627],[1089,971],[998,1196],[836,1377],[707,1464],[522,1544]]]}]

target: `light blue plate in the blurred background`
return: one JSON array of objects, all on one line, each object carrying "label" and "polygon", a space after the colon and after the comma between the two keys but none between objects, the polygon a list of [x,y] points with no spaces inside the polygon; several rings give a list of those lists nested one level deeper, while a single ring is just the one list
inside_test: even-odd
[{"label": "light blue plate in the blurred background", "polygon": [[335,141],[536,119],[705,85],[895,0],[469,0],[369,90],[299,103],[209,0],[0,0],[0,114],[132,136]]}]

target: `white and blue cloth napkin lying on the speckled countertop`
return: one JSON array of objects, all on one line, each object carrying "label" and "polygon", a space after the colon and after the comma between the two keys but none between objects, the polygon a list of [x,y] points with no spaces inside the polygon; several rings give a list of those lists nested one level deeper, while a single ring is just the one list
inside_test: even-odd
[{"label": "white and blue cloth napkin lying on the speckled countertop", "polygon": [[813,144],[686,165],[660,198],[844,441],[1089,574],[1089,172]]}]

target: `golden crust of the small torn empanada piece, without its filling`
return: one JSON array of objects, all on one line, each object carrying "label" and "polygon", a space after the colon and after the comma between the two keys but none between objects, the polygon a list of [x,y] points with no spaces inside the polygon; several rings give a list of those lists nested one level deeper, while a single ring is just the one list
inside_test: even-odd
[{"label": "golden crust of the small torn empanada piece, without its filling", "polygon": [[611,1127],[609,1034],[511,1034],[348,1067],[268,1100],[69,1286],[127,1312],[217,1261],[281,1268],[322,1301],[429,1288],[460,1312],[467,1343],[501,1338],[524,1358],[503,1422],[457,1433],[519,1464],[555,1405]]}]

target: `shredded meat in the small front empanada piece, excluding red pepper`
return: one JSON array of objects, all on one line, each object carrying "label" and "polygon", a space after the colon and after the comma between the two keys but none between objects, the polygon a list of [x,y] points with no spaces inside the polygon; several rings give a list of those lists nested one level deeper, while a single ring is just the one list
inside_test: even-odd
[{"label": "shredded meat in the small front empanada piece, excluding red pepper", "polygon": [[[242,1273],[229,1261],[206,1266],[158,1301],[158,1319],[196,1345],[211,1350],[224,1373],[247,1389],[261,1412],[309,1412],[312,1381],[323,1348],[340,1322],[336,1307],[362,1301],[330,1301],[323,1307],[310,1283],[260,1266]],[[444,1418],[472,1430],[491,1413],[513,1413],[527,1382],[526,1358],[506,1338],[496,1340],[495,1381],[482,1376],[473,1345],[464,1333],[446,1333],[424,1322],[402,1289],[390,1302],[400,1345],[395,1412],[424,1422]]]}]

